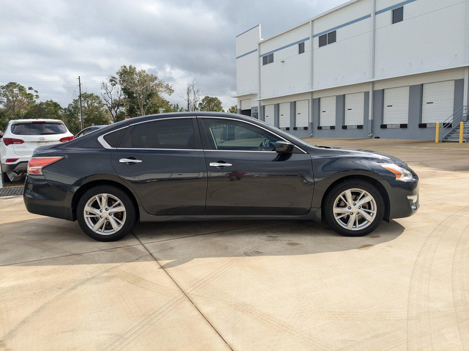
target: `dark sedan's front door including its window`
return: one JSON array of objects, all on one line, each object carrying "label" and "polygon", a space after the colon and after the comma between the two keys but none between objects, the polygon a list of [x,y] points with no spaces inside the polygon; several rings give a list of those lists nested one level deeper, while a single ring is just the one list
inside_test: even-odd
[{"label": "dark sedan's front door including its window", "polygon": [[310,154],[275,152],[283,140],[250,122],[199,117],[208,171],[205,214],[291,214],[310,211]]}]

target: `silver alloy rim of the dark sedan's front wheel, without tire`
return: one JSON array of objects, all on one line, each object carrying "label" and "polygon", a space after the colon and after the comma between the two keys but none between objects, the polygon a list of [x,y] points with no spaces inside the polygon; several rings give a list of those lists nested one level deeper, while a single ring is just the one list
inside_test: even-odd
[{"label": "silver alloy rim of the dark sedan's front wheel, without tire", "polygon": [[334,218],[348,230],[362,230],[376,217],[377,205],[374,197],[363,189],[348,189],[334,201]]}]

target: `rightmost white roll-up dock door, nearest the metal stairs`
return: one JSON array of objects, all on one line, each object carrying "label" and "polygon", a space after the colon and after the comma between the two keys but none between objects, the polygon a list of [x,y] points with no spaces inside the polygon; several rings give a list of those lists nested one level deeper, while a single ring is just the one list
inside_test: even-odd
[{"label": "rightmost white roll-up dock door, nearest the metal stairs", "polygon": [[422,123],[444,122],[453,114],[454,80],[424,84]]}]

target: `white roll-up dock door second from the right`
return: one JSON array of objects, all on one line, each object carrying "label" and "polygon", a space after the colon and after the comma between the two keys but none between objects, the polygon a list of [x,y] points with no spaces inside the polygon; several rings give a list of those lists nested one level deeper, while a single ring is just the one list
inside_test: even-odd
[{"label": "white roll-up dock door second from the right", "polygon": [[409,87],[384,89],[383,124],[407,124]]}]

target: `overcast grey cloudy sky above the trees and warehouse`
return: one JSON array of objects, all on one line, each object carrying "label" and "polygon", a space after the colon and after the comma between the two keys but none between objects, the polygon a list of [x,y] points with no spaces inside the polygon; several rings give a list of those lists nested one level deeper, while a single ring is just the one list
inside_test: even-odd
[{"label": "overcast grey cloudy sky above the trees and warehouse", "polygon": [[187,80],[228,109],[236,103],[235,36],[261,24],[270,37],[345,0],[0,0],[0,85],[17,81],[67,106],[121,65],[174,84]]}]

